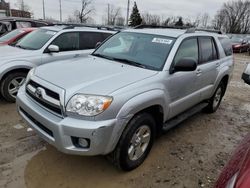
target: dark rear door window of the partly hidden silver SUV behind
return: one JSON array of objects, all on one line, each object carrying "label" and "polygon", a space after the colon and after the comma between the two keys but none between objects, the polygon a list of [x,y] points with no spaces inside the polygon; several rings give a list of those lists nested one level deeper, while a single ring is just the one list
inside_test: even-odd
[{"label": "dark rear door window of the partly hidden silver SUV behind", "polygon": [[80,49],[95,49],[98,42],[105,40],[103,33],[81,32],[80,33]]}]

